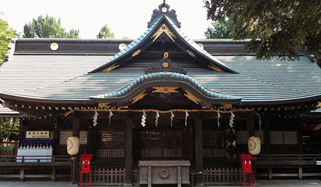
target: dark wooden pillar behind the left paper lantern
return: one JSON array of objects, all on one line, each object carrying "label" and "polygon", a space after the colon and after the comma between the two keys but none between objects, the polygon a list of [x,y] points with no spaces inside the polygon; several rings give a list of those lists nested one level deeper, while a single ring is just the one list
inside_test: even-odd
[{"label": "dark wooden pillar behind the left paper lantern", "polygon": [[[75,111],[73,112],[73,136],[80,137],[80,117],[79,112]],[[75,155],[75,159],[72,159],[72,165],[71,165],[71,186],[77,186],[79,183],[79,153]]]}]

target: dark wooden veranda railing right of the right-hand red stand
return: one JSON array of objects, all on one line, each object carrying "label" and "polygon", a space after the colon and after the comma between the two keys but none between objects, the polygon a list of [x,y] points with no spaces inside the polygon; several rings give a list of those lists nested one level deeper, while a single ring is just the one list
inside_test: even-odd
[{"label": "dark wooden veranda railing right of the right-hand red stand", "polygon": [[257,176],[268,177],[303,177],[321,176],[321,154],[261,154],[256,156],[256,167],[267,168],[268,172],[260,172]]}]

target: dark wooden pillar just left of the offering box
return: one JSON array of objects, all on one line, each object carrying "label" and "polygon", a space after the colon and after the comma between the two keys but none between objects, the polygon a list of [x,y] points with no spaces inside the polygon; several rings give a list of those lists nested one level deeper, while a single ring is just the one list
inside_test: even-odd
[{"label": "dark wooden pillar just left of the offering box", "polygon": [[124,187],[133,187],[132,185],[132,163],[133,163],[133,118],[127,113],[126,119],[126,148],[125,148],[125,184]]}]

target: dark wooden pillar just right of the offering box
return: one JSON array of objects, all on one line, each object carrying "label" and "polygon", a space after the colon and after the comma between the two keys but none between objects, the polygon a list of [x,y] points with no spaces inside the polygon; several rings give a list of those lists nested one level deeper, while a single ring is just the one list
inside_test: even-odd
[{"label": "dark wooden pillar just right of the offering box", "polygon": [[[201,112],[195,119],[195,162],[196,162],[196,172],[203,171],[203,155],[202,155],[202,118]],[[197,175],[196,186],[203,186],[203,178],[201,175]]]}]

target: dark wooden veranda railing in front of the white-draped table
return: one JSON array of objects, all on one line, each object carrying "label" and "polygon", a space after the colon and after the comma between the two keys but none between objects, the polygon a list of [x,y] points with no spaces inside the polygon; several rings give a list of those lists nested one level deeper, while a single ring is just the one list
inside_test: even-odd
[{"label": "dark wooden veranda railing in front of the white-draped table", "polygon": [[[70,178],[70,156],[16,156],[0,155],[0,180],[2,178]],[[63,173],[56,173],[63,169]],[[68,171],[67,171],[68,170]],[[60,170],[59,170],[60,171]]]}]

